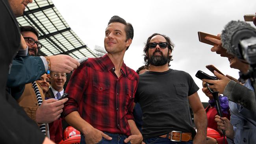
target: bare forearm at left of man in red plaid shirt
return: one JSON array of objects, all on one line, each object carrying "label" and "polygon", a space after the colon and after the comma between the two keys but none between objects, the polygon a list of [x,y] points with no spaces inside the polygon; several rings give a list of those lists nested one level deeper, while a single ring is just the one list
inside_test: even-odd
[{"label": "bare forearm at left of man in red plaid shirt", "polygon": [[73,111],[72,113],[69,113],[65,117],[65,120],[68,124],[70,124],[70,126],[78,129],[83,134],[87,134],[89,130],[94,128],[93,126],[91,126],[91,124],[81,118],[78,111]]}]

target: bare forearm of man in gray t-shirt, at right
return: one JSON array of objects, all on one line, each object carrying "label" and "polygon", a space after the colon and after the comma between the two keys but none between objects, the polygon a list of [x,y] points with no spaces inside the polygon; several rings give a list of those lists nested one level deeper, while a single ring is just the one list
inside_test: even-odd
[{"label": "bare forearm of man in gray t-shirt, at right", "polygon": [[204,109],[200,109],[194,113],[194,121],[197,127],[197,136],[206,138],[207,117]]}]

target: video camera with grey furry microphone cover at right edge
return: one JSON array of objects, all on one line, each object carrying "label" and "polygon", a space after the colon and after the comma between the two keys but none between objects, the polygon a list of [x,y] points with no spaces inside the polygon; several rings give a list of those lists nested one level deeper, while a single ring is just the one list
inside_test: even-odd
[{"label": "video camera with grey furry microphone cover at right edge", "polygon": [[228,22],[221,33],[221,41],[227,53],[256,64],[256,30],[247,22]]}]

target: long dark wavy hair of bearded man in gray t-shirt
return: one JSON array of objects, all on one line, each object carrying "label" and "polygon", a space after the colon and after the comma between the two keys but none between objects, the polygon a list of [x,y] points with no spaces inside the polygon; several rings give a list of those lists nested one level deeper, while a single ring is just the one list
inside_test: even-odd
[{"label": "long dark wavy hair of bearded man in gray t-shirt", "polygon": [[[171,39],[170,39],[169,37],[167,37],[166,35],[162,35],[162,34],[159,34],[159,33],[154,33],[153,35],[151,35],[150,37],[148,37],[148,40],[147,40],[146,45],[145,45],[144,50],[143,50],[143,52],[144,52],[145,66],[147,66],[147,67],[148,67],[149,64],[150,64],[150,63],[148,63],[148,56],[147,56],[148,47],[149,47],[149,46],[148,46],[148,43],[150,42],[150,40],[152,39],[152,37],[154,37],[155,35],[161,35],[161,36],[163,36],[163,37],[165,38],[166,42],[168,43],[168,49],[170,49],[171,52],[173,52],[174,44],[173,44],[173,42],[171,41]],[[171,66],[171,65],[170,65],[170,61],[173,60],[172,57],[173,57],[173,55],[168,56],[168,67]]]}]

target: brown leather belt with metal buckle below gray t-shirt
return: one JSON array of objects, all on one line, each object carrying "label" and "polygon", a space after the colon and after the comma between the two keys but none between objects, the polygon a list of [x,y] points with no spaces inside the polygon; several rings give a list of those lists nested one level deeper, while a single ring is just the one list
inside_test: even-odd
[{"label": "brown leather belt with metal buckle below gray t-shirt", "polygon": [[[169,135],[167,137],[167,135]],[[174,142],[187,142],[189,140],[192,140],[192,133],[182,133],[181,131],[171,131],[169,134],[167,135],[161,135],[159,137],[162,138],[169,138],[171,141]]]}]

